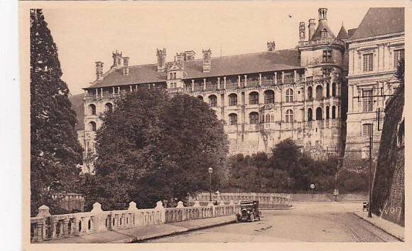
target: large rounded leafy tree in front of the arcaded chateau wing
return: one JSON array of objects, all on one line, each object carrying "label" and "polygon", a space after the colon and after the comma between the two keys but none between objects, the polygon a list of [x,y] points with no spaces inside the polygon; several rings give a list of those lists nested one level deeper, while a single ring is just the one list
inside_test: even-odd
[{"label": "large rounded leafy tree in front of the arcaded chateau wing", "polygon": [[209,167],[213,177],[228,172],[227,139],[215,112],[195,97],[170,98],[165,90],[142,88],[118,100],[103,116],[96,149],[100,188],[90,198],[107,209],[184,201],[209,189]]}]

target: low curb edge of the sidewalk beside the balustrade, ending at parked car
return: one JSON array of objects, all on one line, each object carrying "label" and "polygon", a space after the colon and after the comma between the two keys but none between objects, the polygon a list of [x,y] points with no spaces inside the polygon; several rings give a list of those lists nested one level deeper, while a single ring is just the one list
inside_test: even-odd
[{"label": "low curb edge of the sidewalk beside the balustrade, ending at parked car", "polygon": [[166,232],[161,232],[161,233],[154,233],[151,235],[143,235],[143,236],[139,236],[139,237],[129,237],[129,238],[125,238],[122,240],[116,240],[115,242],[111,242],[111,243],[135,243],[135,242],[143,242],[145,240],[151,240],[151,239],[156,239],[156,238],[160,238],[160,237],[166,237],[166,236],[170,236],[170,235],[176,235],[176,234],[180,234],[180,233],[186,233],[186,232],[190,232],[190,231],[194,231],[194,230],[199,230],[202,228],[212,228],[218,225],[226,225],[229,223],[234,223],[236,222],[236,220],[224,220],[224,221],[220,221],[217,223],[206,223],[204,225],[197,225],[197,226],[193,226],[193,227],[188,227],[188,228],[180,228],[177,230],[171,230],[171,231],[166,231]]}]

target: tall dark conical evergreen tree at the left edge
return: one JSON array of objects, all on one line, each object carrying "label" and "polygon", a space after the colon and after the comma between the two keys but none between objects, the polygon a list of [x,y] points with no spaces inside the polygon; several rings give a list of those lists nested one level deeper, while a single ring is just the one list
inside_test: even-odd
[{"label": "tall dark conical evergreen tree at the left edge", "polygon": [[58,49],[41,9],[30,12],[31,41],[31,213],[53,208],[51,195],[75,191],[82,147],[75,131],[76,114],[68,98]]}]

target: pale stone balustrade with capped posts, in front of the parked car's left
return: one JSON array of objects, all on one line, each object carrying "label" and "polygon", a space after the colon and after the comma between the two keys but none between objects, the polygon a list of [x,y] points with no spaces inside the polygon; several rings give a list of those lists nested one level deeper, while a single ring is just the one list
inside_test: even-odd
[{"label": "pale stone balustrade with capped posts, in front of the parked car's left", "polygon": [[190,207],[183,206],[183,202],[180,201],[176,208],[164,208],[163,203],[158,201],[156,208],[138,209],[132,201],[126,210],[103,211],[100,203],[94,203],[90,212],[50,215],[48,206],[42,205],[38,208],[38,215],[31,218],[31,242],[234,215],[239,208],[239,203],[208,203],[201,206],[199,201],[195,201]]}]

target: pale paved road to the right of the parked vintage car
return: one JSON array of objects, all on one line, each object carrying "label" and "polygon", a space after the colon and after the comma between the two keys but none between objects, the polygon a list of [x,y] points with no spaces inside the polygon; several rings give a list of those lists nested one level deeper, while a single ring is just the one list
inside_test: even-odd
[{"label": "pale paved road to the right of the parked vintage car", "polygon": [[233,223],[146,242],[397,242],[357,218],[360,203],[296,203],[293,210],[262,210],[254,223]]}]

